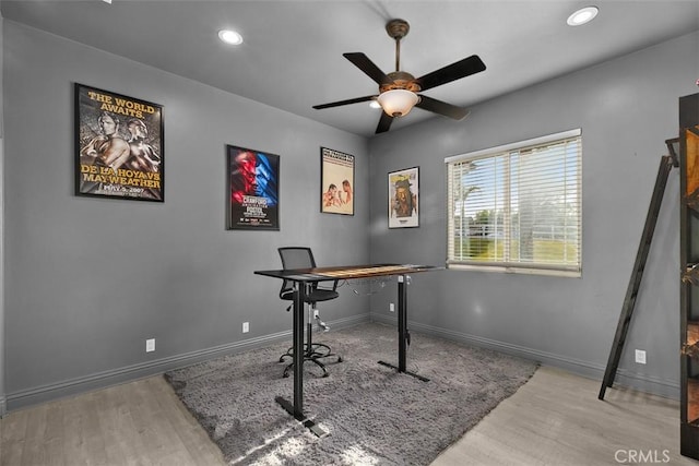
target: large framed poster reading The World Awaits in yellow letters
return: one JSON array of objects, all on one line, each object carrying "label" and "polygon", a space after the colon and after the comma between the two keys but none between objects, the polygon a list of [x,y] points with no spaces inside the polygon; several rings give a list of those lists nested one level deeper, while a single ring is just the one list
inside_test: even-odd
[{"label": "large framed poster reading The World Awaits in yellow letters", "polygon": [[75,194],[165,200],[163,107],[75,83]]}]

